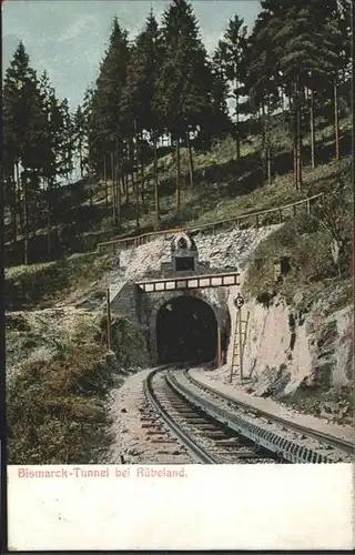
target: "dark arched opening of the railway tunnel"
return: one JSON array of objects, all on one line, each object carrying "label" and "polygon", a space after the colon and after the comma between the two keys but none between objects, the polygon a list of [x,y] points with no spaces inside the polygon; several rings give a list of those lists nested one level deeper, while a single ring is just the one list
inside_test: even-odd
[{"label": "dark arched opening of the railway tunnel", "polygon": [[210,362],[217,352],[217,321],[207,303],[178,296],[165,303],[156,317],[160,363]]}]

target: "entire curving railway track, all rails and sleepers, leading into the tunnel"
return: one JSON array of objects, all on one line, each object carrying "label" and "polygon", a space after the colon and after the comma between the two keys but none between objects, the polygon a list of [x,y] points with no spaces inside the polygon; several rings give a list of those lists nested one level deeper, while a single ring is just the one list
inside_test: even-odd
[{"label": "entire curving railway track, all rails and sleepers, leading into the tunnel", "polygon": [[201,384],[189,369],[154,370],[145,383],[152,415],[191,462],[202,464],[352,462],[352,442],[318,433]]}]

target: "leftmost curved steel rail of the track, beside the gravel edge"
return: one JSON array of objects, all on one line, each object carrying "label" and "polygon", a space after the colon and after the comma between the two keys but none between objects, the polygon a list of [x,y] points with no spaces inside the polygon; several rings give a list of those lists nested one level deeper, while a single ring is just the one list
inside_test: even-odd
[{"label": "leftmost curved steel rail of the track, beside the gravel edge", "polygon": [[[203,464],[217,464],[219,461],[210,455],[204,448],[202,448],[200,445],[197,445],[191,437],[190,435],[184,432],[181,426],[170,416],[168,411],[163,407],[163,405],[160,403],[158,400],[154,387],[152,384],[153,377],[158,372],[162,372],[165,370],[168,366],[160,367],[153,370],[148,377],[145,379],[144,382],[144,390],[145,390],[145,395],[151,405],[155,408],[158,414],[163,418],[170,431],[173,433],[173,435],[183,443],[183,445],[186,447],[187,452],[193,456],[193,458],[197,462],[201,462]],[[170,366],[171,367],[171,366]]]}]

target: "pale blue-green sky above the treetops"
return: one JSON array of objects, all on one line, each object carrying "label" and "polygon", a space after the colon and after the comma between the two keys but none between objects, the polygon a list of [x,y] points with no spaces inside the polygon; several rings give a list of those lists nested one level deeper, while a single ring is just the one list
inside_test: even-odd
[{"label": "pale blue-green sky above the treetops", "polygon": [[[44,69],[60,98],[72,110],[95,81],[113,17],[133,38],[151,9],[160,20],[169,0],[6,0],[2,3],[2,68],[9,65],[22,40],[31,65]],[[192,0],[201,36],[212,52],[230,18],[237,13],[248,27],[260,11],[258,0]]]}]

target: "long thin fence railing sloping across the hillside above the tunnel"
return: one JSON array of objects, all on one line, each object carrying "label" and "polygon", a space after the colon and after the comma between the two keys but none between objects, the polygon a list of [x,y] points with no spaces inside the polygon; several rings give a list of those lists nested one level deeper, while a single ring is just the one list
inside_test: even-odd
[{"label": "long thin fence railing sloping across the hillside above the tunnel", "polygon": [[[116,246],[122,246],[124,249],[128,249],[129,246],[140,246],[142,244],[154,241],[160,236],[164,236],[164,239],[170,239],[176,235],[176,233],[181,232],[199,233],[201,231],[202,232],[212,231],[214,233],[217,228],[223,228],[225,225],[231,225],[231,224],[241,226],[244,225],[245,223],[247,224],[251,221],[255,224],[256,228],[260,228],[261,225],[265,224],[265,221],[263,221],[265,220],[265,216],[267,220],[266,224],[275,223],[274,221],[275,215],[276,215],[276,223],[283,223],[284,215],[287,210],[288,211],[292,210],[292,215],[295,216],[297,213],[297,209],[300,206],[305,206],[306,213],[310,215],[312,205],[316,201],[323,201],[323,198],[324,193],[318,193],[314,194],[313,196],[307,196],[306,199],[301,199],[300,201],[292,202],[290,204],[283,204],[282,206],[275,206],[266,210],[245,212],[243,214],[229,218],[227,220],[219,220],[215,222],[204,223],[201,225],[180,226],[169,230],[151,231],[148,233],[142,233],[140,235],[132,235],[129,238],[118,238],[111,241],[105,241],[104,243],[99,243],[98,249],[99,251],[102,251],[103,249],[106,248],[111,248],[112,250],[114,250]],[[268,220],[267,216],[271,216],[271,220]]]}]

